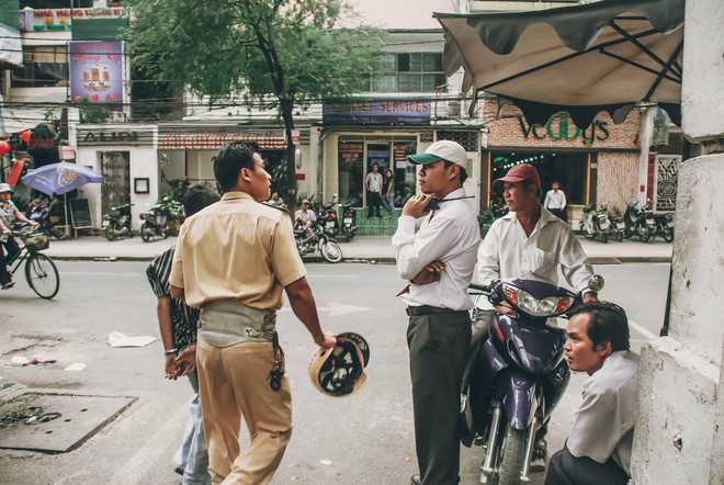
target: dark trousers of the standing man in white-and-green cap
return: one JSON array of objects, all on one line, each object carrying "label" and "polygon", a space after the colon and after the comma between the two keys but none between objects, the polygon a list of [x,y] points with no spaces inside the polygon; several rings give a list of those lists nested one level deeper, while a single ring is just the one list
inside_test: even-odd
[{"label": "dark trousers of the standing man in white-and-green cap", "polygon": [[415,444],[422,485],[460,483],[460,386],[471,343],[467,312],[410,314]]}]

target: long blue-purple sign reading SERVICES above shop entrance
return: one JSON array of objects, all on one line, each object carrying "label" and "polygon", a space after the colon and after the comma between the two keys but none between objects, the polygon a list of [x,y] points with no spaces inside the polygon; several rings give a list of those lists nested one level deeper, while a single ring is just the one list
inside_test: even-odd
[{"label": "long blue-purple sign reading SERVICES above shop entrance", "polygon": [[325,124],[430,123],[430,102],[417,100],[370,100],[323,104]]}]

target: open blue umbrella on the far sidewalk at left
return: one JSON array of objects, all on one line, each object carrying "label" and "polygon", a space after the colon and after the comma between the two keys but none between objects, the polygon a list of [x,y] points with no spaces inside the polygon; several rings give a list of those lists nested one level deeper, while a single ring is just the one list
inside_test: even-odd
[{"label": "open blue umbrella on the far sidewalk at left", "polygon": [[20,183],[45,194],[64,194],[87,183],[100,183],[103,176],[77,163],[60,161],[33,170]]}]

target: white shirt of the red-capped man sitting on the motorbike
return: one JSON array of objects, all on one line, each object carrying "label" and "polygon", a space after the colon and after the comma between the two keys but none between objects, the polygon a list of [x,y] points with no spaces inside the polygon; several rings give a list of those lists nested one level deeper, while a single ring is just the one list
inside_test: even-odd
[{"label": "white shirt of the red-capped man sitting on the motorbike", "polygon": [[[593,268],[570,226],[541,207],[541,218],[530,237],[514,212],[500,217],[485,236],[477,256],[480,284],[520,278],[558,284],[558,266],[576,292],[588,290]],[[478,307],[490,309],[487,298]]]}]

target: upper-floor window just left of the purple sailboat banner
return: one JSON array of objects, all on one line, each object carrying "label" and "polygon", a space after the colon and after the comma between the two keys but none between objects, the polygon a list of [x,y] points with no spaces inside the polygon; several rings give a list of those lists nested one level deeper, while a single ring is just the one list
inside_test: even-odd
[{"label": "upper-floor window just left of the purple sailboat banner", "polygon": [[14,69],[12,88],[56,88],[68,86],[68,50],[63,46],[23,47],[23,67]]}]

